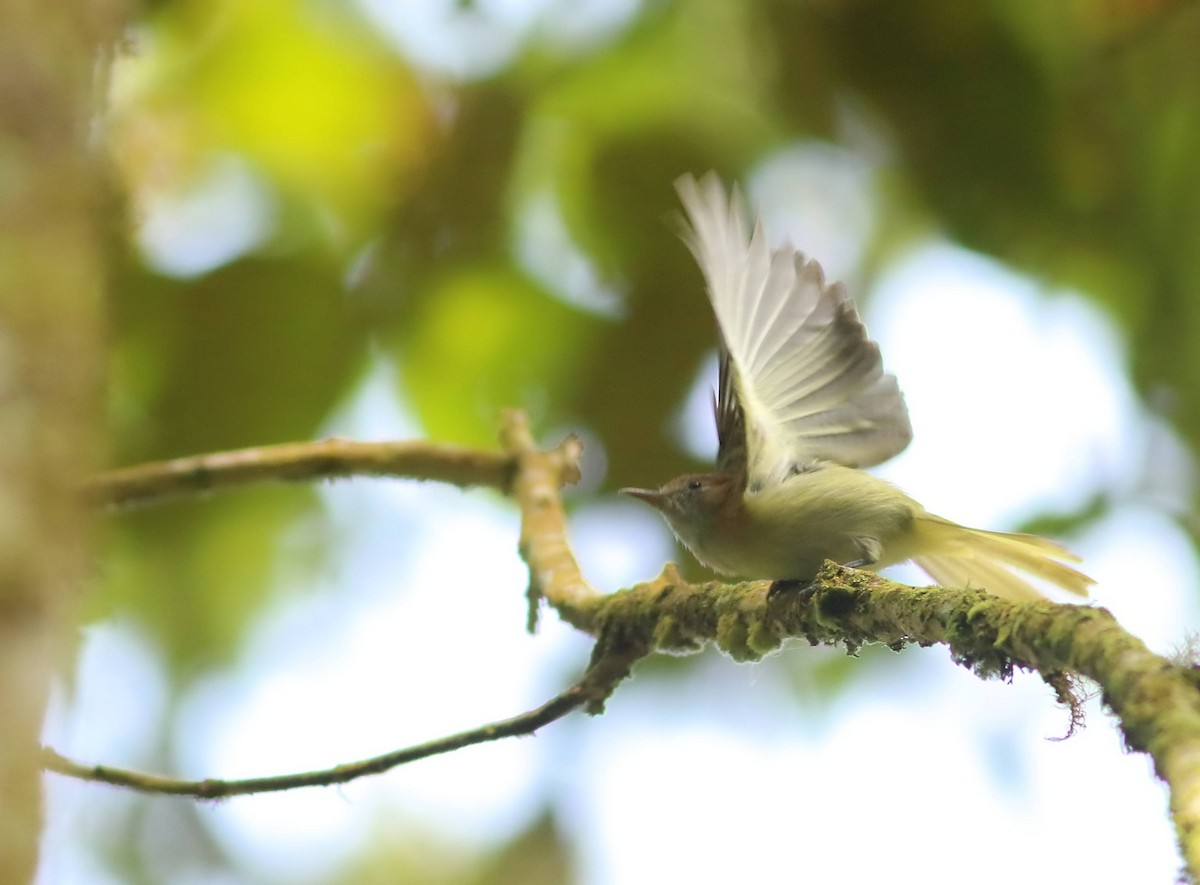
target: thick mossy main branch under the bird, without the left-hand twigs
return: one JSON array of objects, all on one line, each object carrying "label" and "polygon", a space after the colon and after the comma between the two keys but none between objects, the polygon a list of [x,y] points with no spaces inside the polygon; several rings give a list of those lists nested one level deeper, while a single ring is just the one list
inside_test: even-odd
[{"label": "thick mossy main branch under the bird, without the left-hand twigs", "polygon": [[[520,414],[505,419],[505,446],[521,471],[521,553],[529,565],[530,602],[544,597],[572,626],[599,637],[672,654],[715,643],[737,661],[757,661],[785,639],[812,645],[866,643],[899,650],[943,644],[980,676],[1033,670],[1079,715],[1070,693],[1078,674],[1094,680],[1116,714],[1126,742],[1148,753],[1171,793],[1183,857],[1200,881],[1200,672],[1151,652],[1103,608],[1013,603],[983,590],[910,588],[828,562],[809,597],[768,602],[768,582],[689,584],[674,566],[611,595],[592,590],[566,540],[558,498],[562,476],[540,462]],[[566,445],[566,444],[564,444]]]}]

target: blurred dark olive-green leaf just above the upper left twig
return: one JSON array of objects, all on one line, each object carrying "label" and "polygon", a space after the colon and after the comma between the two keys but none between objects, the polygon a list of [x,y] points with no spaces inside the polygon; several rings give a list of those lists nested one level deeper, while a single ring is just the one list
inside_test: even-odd
[{"label": "blurred dark olive-green leaf just above the upper left twig", "polygon": [[133,271],[114,307],[122,463],[307,439],[365,365],[354,302],[307,258],[192,281]]}]

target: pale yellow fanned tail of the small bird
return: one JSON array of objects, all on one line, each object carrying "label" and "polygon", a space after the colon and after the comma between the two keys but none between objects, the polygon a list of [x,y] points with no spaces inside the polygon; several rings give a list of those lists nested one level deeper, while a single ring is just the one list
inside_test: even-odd
[{"label": "pale yellow fanned tail of the small bird", "polygon": [[930,550],[913,562],[942,586],[980,588],[1021,602],[1043,598],[1030,577],[1079,596],[1096,583],[1064,564],[1079,562],[1079,556],[1037,535],[968,529],[931,513],[918,516],[913,528],[917,549]]}]

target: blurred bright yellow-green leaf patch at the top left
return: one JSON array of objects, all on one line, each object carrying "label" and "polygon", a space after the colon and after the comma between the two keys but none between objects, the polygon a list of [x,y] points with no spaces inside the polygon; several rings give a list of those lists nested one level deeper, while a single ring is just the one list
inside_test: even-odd
[{"label": "blurred bright yellow-green leaf patch at the top left", "polygon": [[416,78],[350,5],[180,0],[139,37],[114,94],[118,158],[139,199],[232,152],[353,245],[432,142]]}]

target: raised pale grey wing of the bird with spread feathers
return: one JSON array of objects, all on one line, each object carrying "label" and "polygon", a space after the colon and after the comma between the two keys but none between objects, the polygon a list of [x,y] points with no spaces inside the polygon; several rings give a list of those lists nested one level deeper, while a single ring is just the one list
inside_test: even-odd
[{"label": "raised pale grey wing of the bird with spread feathers", "polygon": [[904,450],[912,428],[896,379],[841,284],[826,285],[821,265],[794,248],[770,249],[761,223],[748,231],[740,194],[726,195],[715,174],[684,175],[676,189],[721,327],[722,466],[743,457],[754,482],[814,460],[870,466]]}]

